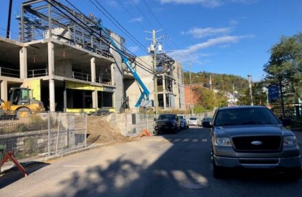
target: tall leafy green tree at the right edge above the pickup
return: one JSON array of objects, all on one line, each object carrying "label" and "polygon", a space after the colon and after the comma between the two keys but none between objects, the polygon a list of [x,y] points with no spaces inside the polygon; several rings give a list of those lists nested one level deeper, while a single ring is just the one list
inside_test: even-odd
[{"label": "tall leafy green tree at the right edge above the pickup", "polygon": [[[270,52],[270,60],[264,66],[266,79],[270,84],[281,81],[286,111],[291,111],[292,104],[297,104],[302,96],[302,34],[281,37]],[[280,111],[279,102],[273,103],[276,108],[273,111]]]}]

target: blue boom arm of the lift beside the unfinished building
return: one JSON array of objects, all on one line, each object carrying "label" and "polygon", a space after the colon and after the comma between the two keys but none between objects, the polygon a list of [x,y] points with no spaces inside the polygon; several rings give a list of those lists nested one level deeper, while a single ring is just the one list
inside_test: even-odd
[{"label": "blue boom arm of the lift beside the unfinished building", "polygon": [[139,75],[137,75],[137,71],[135,71],[133,69],[133,67],[131,66],[131,62],[128,60],[128,58],[126,57],[126,55],[124,55],[124,53],[121,51],[121,49],[119,49],[119,47],[117,47],[117,44],[115,43],[115,41],[113,40],[113,38],[111,38],[110,34],[104,28],[104,26],[101,25],[101,29],[102,29],[102,31],[104,31],[104,33],[106,34],[106,36],[110,40],[111,44],[115,48],[115,51],[117,51],[117,53],[119,53],[119,55],[121,55],[121,60],[129,68],[129,70],[132,73],[133,77],[135,77],[135,80],[137,80],[137,82],[139,83],[139,86],[141,86],[141,88],[143,88],[143,92],[141,92],[141,96],[139,96],[139,100],[135,104],[135,107],[141,106],[141,101],[143,99],[146,99],[146,101],[149,101],[149,94],[150,94],[150,92],[149,92],[148,88],[145,86],[145,84],[143,83],[143,81],[141,81],[141,78],[139,77]]}]

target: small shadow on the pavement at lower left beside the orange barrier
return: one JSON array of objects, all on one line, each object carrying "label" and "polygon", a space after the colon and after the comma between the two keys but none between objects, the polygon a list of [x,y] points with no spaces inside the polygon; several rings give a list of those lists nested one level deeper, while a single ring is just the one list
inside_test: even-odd
[{"label": "small shadow on the pavement at lower left beside the orange barrier", "polygon": [[[49,165],[49,163],[36,161],[23,166],[25,167],[28,175],[32,176],[37,170],[40,170],[41,168]],[[23,179],[24,177],[25,176],[23,175],[23,173],[16,167],[11,168],[10,170],[6,170],[0,175],[0,189],[18,181],[19,179]]]}]

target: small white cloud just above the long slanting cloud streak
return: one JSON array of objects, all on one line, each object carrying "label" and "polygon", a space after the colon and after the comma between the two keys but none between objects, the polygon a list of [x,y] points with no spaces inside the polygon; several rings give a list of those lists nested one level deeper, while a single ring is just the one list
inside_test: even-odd
[{"label": "small white cloud just above the long slanting cloud streak", "polygon": [[227,34],[230,31],[231,31],[230,28],[213,28],[213,27],[197,28],[197,27],[194,27],[187,32],[181,32],[181,34],[191,34],[195,38],[204,38],[204,37],[213,36],[216,34]]}]

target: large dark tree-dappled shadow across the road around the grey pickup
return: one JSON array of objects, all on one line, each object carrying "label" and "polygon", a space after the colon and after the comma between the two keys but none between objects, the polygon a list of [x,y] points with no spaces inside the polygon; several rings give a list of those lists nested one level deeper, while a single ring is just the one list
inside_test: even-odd
[{"label": "large dark tree-dappled shadow across the road around the grey pickup", "polygon": [[[287,181],[280,174],[265,171],[237,171],[225,179],[213,179],[209,143],[192,141],[192,137],[200,139],[200,135],[209,140],[209,131],[182,132],[161,135],[169,140],[170,147],[167,150],[162,149],[163,144],[153,147],[153,151],[163,151],[160,157],[151,158],[154,161],[125,154],[108,161],[106,167],[74,172],[60,182],[63,189],[56,196],[283,196],[278,190],[286,192],[286,196],[301,196],[299,181]],[[200,182],[211,186],[206,189],[184,187],[184,183]]]}]

